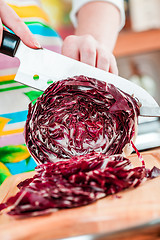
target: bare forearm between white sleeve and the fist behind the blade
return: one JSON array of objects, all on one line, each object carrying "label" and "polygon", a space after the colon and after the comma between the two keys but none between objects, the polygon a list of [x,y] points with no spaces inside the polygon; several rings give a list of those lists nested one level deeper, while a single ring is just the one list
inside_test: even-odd
[{"label": "bare forearm between white sleeve and the fist behind the blade", "polygon": [[77,36],[90,34],[113,51],[120,26],[120,12],[110,3],[97,1],[85,4],[77,14]]}]

